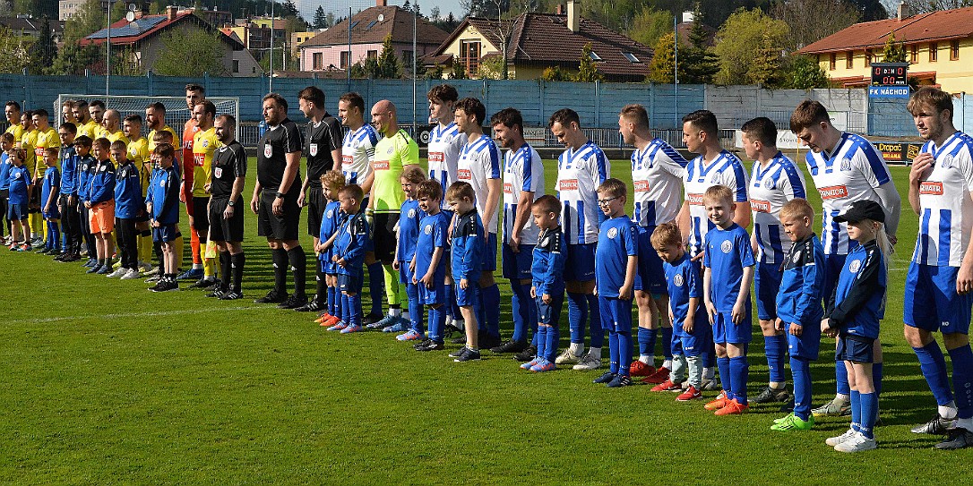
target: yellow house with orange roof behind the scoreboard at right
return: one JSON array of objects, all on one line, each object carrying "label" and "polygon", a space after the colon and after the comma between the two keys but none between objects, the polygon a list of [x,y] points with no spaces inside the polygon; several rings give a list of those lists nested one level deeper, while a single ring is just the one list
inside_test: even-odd
[{"label": "yellow house with orange roof behind the scoreboard at right", "polygon": [[843,87],[871,84],[871,63],[881,62],[885,40],[903,42],[909,78],[948,92],[973,92],[973,7],[856,23],[799,53],[817,57],[831,81]]}]

